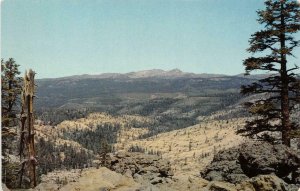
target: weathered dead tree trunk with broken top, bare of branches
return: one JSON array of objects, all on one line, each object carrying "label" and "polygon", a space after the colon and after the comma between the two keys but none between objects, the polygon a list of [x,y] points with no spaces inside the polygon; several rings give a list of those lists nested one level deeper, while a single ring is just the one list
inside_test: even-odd
[{"label": "weathered dead tree trunk with broken top, bare of branches", "polygon": [[[20,186],[23,175],[26,174],[30,179],[30,187],[36,186],[36,158],[34,147],[34,75],[31,69],[25,73],[24,87],[22,90],[22,111],[21,111],[21,139],[20,139],[20,159],[25,160],[22,163]],[[26,169],[26,170],[25,170]]]}]

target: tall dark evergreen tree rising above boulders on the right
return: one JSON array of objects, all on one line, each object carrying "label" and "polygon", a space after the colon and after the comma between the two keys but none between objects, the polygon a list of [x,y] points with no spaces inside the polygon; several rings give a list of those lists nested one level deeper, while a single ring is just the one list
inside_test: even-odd
[{"label": "tall dark evergreen tree rising above boulders on the right", "polygon": [[300,8],[295,0],[267,0],[265,6],[264,10],[257,11],[258,22],[264,29],[249,40],[248,51],[259,53],[259,57],[247,58],[243,64],[246,74],[270,73],[241,87],[241,93],[258,94],[258,98],[245,104],[255,119],[248,121],[238,133],[274,142],[277,140],[272,134],[280,132],[282,143],[290,146],[291,132],[297,128],[290,114],[300,102],[300,82],[299,67],[289,66],[287,58],[294,56],[292,52],[299,45],[293,35],[300,30]]}]

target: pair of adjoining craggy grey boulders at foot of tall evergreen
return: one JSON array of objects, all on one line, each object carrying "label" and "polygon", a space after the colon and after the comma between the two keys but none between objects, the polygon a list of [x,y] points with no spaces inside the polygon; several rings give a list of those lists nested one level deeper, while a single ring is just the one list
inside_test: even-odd
[{"label": "pair of adjoining craggy grey boulders at foot of tall evergreen", "polygon": [[251,142],[217,153],[201,175],[210,181],[239,183],[273,173],[290,184],[300,184],[299,168],[300,155],[291,148]]}]

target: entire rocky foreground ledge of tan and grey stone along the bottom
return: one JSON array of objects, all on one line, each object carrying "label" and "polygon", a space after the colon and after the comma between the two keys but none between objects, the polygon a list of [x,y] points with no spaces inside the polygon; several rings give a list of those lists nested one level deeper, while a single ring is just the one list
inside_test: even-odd
[{"label": "entire rocky foreground ledge of tan and grey stone along the bottom", "polygon": [[299,169],[298,151],[261,142],[221,151],[189,177],[174,174],[159,156],[118,152],[107,155],[105,167],[48,173],[34,190],[298,191]]}]

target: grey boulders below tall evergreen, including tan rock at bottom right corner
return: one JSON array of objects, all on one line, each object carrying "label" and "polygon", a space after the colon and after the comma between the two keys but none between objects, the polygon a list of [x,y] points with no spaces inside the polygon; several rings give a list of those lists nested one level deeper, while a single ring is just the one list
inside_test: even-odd
[{"label": "grey boulders below tall evergreen, including tan rock at bottom right corner", "polygon": [[298,191],[300,154],[285,145],[248,142],[217,153],[201,175],[238,190]]}]

